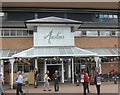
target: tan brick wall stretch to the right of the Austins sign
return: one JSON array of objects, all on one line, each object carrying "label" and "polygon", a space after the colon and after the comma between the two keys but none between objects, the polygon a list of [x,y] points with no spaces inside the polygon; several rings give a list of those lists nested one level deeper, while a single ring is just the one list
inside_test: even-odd
[{"label": "tan brick wall stretch to the right of the Austins sign", "polygon": [[75,45],[81,48],[116,47],[117,37],[75,37]]}]

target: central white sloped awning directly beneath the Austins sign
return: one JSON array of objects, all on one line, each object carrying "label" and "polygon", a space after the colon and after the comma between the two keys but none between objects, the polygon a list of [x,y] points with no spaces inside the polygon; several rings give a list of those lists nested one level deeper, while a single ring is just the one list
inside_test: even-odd
[{"label": "central white sloped awning directly beneath the Austins sign", "polygon": [[55,56],[97,56],[96,53],[77,47],[33,47],[13,55],[12,57],[55,57]]}]

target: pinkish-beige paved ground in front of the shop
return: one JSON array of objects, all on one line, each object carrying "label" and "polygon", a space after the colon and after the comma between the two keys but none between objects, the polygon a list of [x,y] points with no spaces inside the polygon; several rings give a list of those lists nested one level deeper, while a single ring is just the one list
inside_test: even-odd
[{"label": "pinkish-beige paved ground in front of the shop", "polygon": [[[23,90],[24,92],[27,93],[54,93],[53,84],[51,84],[50,87],[51,87],[51,91],[43,91],[43,84],[40,84],[38,88],[34,88],[33,85],[29,85],[29,87],[23,86]],[[113,82],[102,83],[101,93],[118,93],[118,89],[120,90],[118,84],[113,84]],[[16,92],[15,89],[5,90],[5,93],[15,93],[15,92]],[[90,85],[90,92],[96,93],[95,85]],[[72,83],[60,84],[59,93],[83,93],[83,87],[82,84],[80,84],[80,86],[76,86],[75,84]]]}]

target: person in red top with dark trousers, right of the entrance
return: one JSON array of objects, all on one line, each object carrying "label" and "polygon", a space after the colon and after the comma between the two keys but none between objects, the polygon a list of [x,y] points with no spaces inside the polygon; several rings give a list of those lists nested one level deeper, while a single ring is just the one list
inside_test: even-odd
[{"label": "person in red top with dark trousers, right of the entrance", "polygon": [[81,82],[82,82],[82,84],[83,84],[84,95],[87,95],[87,94],[86,94],[86,90],[88,90],[88,93],[90,92],[90,91],[89,91],[89,86],[88,86],[89,77],[88,77],[88,74],[87,74],[84,70],[82,70]]}]

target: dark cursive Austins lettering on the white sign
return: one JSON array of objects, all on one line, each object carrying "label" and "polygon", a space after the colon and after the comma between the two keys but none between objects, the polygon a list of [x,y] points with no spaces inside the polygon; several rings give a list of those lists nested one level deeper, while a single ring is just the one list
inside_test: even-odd
[{"label": "dark cursive Austins lettering on the white sign", "polygon": [[60,32],[53,34],[53,31],[51,30],[49,34],[44,36],[44,39],[48,39],[48,43],[50,44],[52,39],[64,39],[64,35],[62,35]]}]

